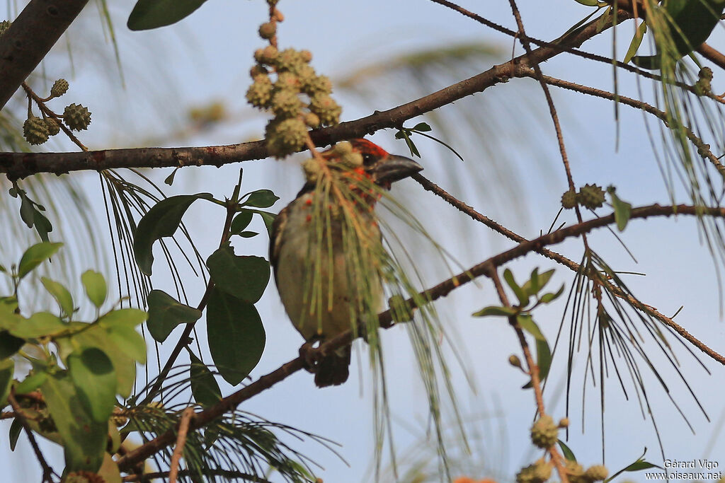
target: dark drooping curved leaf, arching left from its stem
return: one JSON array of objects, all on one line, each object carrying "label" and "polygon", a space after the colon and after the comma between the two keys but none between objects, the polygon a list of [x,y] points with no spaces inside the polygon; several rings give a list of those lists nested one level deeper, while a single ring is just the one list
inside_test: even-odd
[{"label": "dark drooping curved leaf, arching left from its stem", "polygon": [[[155,0],[154,0],[155,1]],[[157,1],[158,4],[165,4],[167,1]],[[136,4],[138,7],[138,4]],[[133,234],[133,256],[136,259],[138,268],[146,275],[151,275],[151,267],[154,264],[154,242],[163,237],[170,237],[181,224],[181,218],[191,203],[203,198],[210,200],[210,193],[198,193],[196,195],[171,196],[156,203],[152,209],[141,218]]]}]

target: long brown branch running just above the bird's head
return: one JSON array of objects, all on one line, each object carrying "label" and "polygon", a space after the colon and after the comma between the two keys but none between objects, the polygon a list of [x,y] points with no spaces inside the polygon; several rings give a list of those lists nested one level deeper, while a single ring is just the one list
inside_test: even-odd
[{"label": "long brown branch running just above the bird's head", "polygon": [[[605,25],[605,28],[610,26]],[[555,46],[540,47],[532,51],[530,56],[518,56],[505,64],[496,65],[486,72],[462,80],[428,96],[355,121],[342,122],[334,127],[312,131],[310,136],[316,146],[326,146],[339,140],[360,138],[381,129],[399,127],[407,119],[451,104],[460,98],[482,92],[497,83],[505,82],[513,77],[515,66],[529,66],[532,62],[545,62],[566,48],[580,46],[581,43],[597,33],[599,31],[596,22],[589,22],[583,28],[560,40]],[[220,167],[223,164],[266,157],[268,157],[268,151],[263,141],[200,148],[128,148],[85,153],[0,153],[0,172],[6,173],[9,179],[16,180],[41,172],[60,175],[83,169],[159,168],[207,164]]]}]

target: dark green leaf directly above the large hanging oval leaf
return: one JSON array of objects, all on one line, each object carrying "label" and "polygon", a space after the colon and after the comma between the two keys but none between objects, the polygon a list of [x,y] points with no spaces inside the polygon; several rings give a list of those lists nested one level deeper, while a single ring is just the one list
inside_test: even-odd
[{"label": "dark green leaf directly above the large hanging oval leaf", "polygon": [[220,290],[241,300],[260,300],[270,280],[270,264],[260,256],[236,256],[231,246],[211,254],[207,266]]}]

